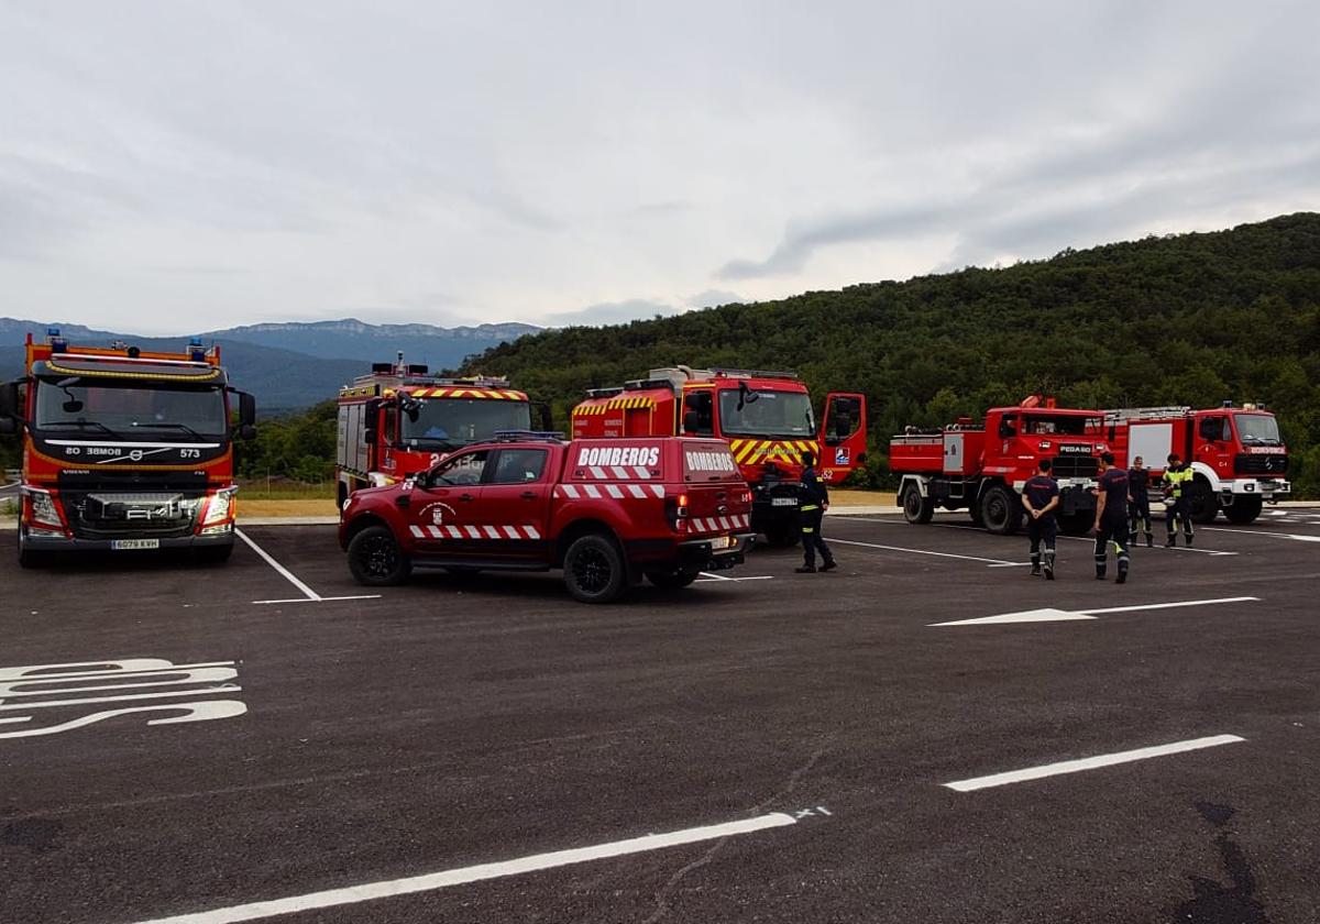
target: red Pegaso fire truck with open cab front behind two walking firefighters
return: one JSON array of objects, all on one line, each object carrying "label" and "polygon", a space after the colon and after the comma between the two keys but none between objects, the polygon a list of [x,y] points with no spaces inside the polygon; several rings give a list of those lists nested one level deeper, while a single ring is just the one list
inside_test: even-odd
[{"label": "red Pegaso fire truck with open cab front behind two walking firefighters", "polygon": [[1107,449],[1102,412],[1059,408],[1034,395],[991,408],[983,422],[909,426],[890,441],[890,470],[902,474],[899,504],[908,523],[929,523],[936,506],[965,508],[977,525],[1007,535],[1022,525],[1022,486],[1048,458],[1060,488],[1059,527],[1076,535],[1094,521],[1090,490]]}]

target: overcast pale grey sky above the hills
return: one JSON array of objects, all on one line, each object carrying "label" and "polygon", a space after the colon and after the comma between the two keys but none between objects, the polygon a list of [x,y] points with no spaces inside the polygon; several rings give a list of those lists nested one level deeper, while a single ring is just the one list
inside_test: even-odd
[{"label": "overcast pale grey sky above the hills", "polygon": [[602,323],[1320,210],[1320,4],[0,0],[0,315]]}]

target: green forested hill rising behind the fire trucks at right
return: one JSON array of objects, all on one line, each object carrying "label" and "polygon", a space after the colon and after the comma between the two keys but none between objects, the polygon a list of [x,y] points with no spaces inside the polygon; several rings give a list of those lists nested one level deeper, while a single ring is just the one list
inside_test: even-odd
[{"label": "green forested hill rising behind the fire trucks at right", "polygon": [[524,337],[471,360],[556,404],[652,366],[797,370],[870,397],[874,457],[904,424],[1024,395],[1073,407],[1263,401],[1320,496],[1320,215],[1064,251],[1003,269]]}]

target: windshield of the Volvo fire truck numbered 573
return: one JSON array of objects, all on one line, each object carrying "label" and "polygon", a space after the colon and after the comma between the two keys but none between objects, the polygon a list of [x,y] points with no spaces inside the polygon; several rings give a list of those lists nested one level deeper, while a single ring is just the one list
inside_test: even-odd
[{"label": "windshield of the Volvo fire truck numbered 573", "polygon": [[219,388],[120,385],[91,379],[41,379],[36,429],[96,430],[124,440],[152,436],[195,440],[224,436],[228,421]]}]

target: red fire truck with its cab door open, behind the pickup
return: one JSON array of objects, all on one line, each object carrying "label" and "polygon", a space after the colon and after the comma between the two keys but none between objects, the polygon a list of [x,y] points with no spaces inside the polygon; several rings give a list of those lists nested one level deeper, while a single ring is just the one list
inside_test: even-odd
[{"label": "red fire truck with its cab door open, behind the pickup", "polygon": [[799,539],[804,451],[838,483],[866,461],[866,396],[832,392],[820,429],[807,385],[792,372],[651,370],[619,388],[595,388],[573,408],[573,438],[718,437],[752,494],[751,528],[774,545]]}]

